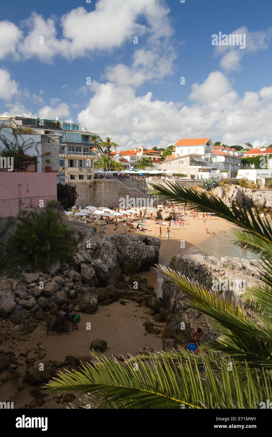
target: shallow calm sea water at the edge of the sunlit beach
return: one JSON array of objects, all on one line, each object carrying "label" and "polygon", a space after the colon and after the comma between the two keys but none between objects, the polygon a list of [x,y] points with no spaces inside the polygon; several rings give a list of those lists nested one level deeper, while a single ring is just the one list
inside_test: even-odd
[{"label": "shallow calm sea water at the edge of the sunlit beach", "polygon": [[213,256],[213,257],[238,257],[246,260],[256,260],[259,256],[256,253],[252,253],[250,250],[244,251],[240,247],[235,246],[231,240],[234,240],[234,236],[231,235],[231,231],[224,236],[224,231],[219,231],[216,235],[210,236],[209,239],[203,241],[199,246],[192,246],[188,250],[184,251],[184,255],[201,255]]}]

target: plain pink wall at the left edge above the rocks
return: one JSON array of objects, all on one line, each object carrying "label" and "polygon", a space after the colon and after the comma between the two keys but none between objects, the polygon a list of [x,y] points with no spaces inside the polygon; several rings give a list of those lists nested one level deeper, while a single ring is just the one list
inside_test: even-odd
[{"label": "plain pink wall at the left edge above the rocks", "polygon": [[57,200],[56,173],[0,172],[0,217],[17,216],[28,206]]}]

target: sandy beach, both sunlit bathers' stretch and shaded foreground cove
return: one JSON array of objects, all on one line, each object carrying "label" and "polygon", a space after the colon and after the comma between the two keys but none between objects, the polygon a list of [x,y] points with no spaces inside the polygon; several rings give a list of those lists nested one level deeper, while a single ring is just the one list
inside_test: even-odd
[{"label": "sandy beach, both sunlit bathers' stretch and shaded foreground cove", "polygon": [[[182,218],[186,225],[170,226],[170,238],[166,239],[166,225],[162,225],[161,249],[159,264],[167,265],[171,257],[182,255],[190,247],[200,245],[204,240],[213,238],[210,234],[204,232],[204,222],[202,218],[193,219],[193,217],[185,216]],[[145,232],[147,236],[159,236],[159,226],[148,220],[145,222],[145,227],[148,229]],[[134,221],[134,224],[137,224]],[[220,218],[209,218],[205,222],[205,226],[217,234],[219,231],[230,232],[233,225]],[[115,231],[114,224],[97,226],[97,232],[101,228],[109,235],[124,232],[125,226],[122,222],[118,222],[118,230]],[[137,236],[140,232],[131,231],[129,235]],[[141,232],[143,234],[143,232]],[[185,242],[181,248],[181,241]],[[184,252],[182,252],[184,251]],[[155,269],[151,268],[148,272],[141,272],[141,277],[146,277],[148,283],[154,286],[155,290],[160,291],[163,278]],[[80,313],[81,322],[79,329],[74,332],[63,333],[58,336],[52,332],[52,337],[46,337],[45,323],[39,322],[38,326],[28,336],[20,336],[20,338],[12,337],[12,340],[3,340],[1,348],[5,351],[14,350],[18,357],[21,352],[28,353],[28,358],[37,358],[37,343],[41,342],[45,348],[43,360],[36,359],[34,365],[42,361],[59,360],[64,361],[66,355],[82,356],[88,355],[90,343],[96,339],[107,341],[106,354],[114,354],[115,356],[122,354],[136,354],[143,350],[152,348],[154,351],[162,350],[162,333],[152,335],[146,333],[145,327],[142,326],[145,321],[151,321],[158,325],[158,329],[163,330],[162,323],[155,322],[155,316],[150,316],[145,311],[145,307],[139,307],[137,302],[126,301],[126,305],[120,305],[120,300],[109,306],[98,306],[97,312],[93,315]],[[86,329],[86,323],[91,323],[91,330]],[[22,367],[19,367],[20,373],[25,373],[25,358],[19,358]],[[8,373],[8,372],[7,372]],[[1,374],[1,378],[5,377],[6,372]],[[0,387],[1,397],[14,401],[14,408],[24,407],[33,397],[30,395],[31,386],[27,384],[24,391],[18,392],[17,387],[22,385],[21,378],[19,381],[8,381]],[[12,398],[12,399],[11,399]],[[77,399],[73,402],[77,405]],[[64,408],[67,403],[57,403],[56,399],[51,395],[45,406],[36,408]]]}]

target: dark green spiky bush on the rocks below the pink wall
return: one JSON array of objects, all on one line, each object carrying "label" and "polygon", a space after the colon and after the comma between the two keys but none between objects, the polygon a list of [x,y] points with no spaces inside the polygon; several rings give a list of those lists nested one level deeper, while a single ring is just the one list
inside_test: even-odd
[{"label": "dark green spiky bush on the rocks below the pink wall", "polygon": [[45,269],[55,261],[67,261],[74,253],[73,232],[59,225],[57,213],[31,212],[31,218],[21,218],[11,238],[16,253],[11,260]]}]

